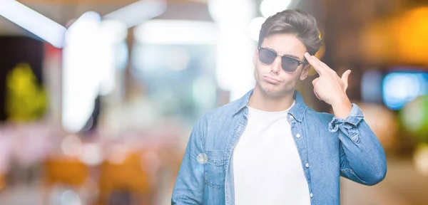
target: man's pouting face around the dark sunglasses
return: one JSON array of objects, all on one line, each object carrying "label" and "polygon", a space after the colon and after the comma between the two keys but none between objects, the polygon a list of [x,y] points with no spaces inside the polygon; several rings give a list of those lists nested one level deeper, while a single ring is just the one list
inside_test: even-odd
[{"label": "man's pouting face around the dark sunglasses", "polygon": [[[295,56],[298,61],[305,61],[305,45],[295,35],[278,33],[268,36],[262,43],[262,48],[268,48],[280,55]],[[282,97],[295,90],[299,80],[305,80],[309,71],[309,64],[302,64],[293,73],[287,73],[281,68],[281,58],[275,58],[270,65],[260,62],[259,52],[255,51],[253,64],[256,87],[266,95]]]}]

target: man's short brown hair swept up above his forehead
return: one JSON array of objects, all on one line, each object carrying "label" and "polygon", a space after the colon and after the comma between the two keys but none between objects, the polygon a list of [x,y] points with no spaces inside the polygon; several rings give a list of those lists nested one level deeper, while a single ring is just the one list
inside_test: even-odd
[{"label": "man's short brown hair swept up above his forehead", "polygon": [[276,33],[295,34],[311,55],[315,55],[322,44],[315,17],[298,9],[287,9],[267,18],[260,29],[258,46],[266,37]]}]

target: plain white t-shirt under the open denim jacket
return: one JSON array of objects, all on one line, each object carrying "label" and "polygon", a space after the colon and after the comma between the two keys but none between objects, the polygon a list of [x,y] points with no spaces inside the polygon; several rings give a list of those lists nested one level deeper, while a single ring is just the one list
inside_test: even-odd
[{"label": "plain white t-shirt under the open denim jacket", "polygon": [[248,109],[247,127],[233,151],[235,204],[310,204],[288,110]]}]

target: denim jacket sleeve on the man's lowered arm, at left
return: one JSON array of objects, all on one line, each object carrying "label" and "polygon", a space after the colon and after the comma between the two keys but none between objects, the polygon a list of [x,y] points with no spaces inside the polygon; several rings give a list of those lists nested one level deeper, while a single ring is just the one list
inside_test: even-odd
[{"label": "denim jacket sleeve on the man's lowered arm, at left", "polygon": [[193,127],[175,180],[171,204],[203,204],[206,155],[203,154],[201,120]]}]

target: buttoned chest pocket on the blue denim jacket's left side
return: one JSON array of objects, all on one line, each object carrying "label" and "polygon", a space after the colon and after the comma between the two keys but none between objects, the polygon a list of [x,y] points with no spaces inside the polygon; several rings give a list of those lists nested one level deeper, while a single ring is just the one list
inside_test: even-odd
[{"label": "buttoned chest pocket on the blue denim jacket's left side", "polygon": [[225,186],[224,151],[206,151],[205,183],[214,189]]}]

